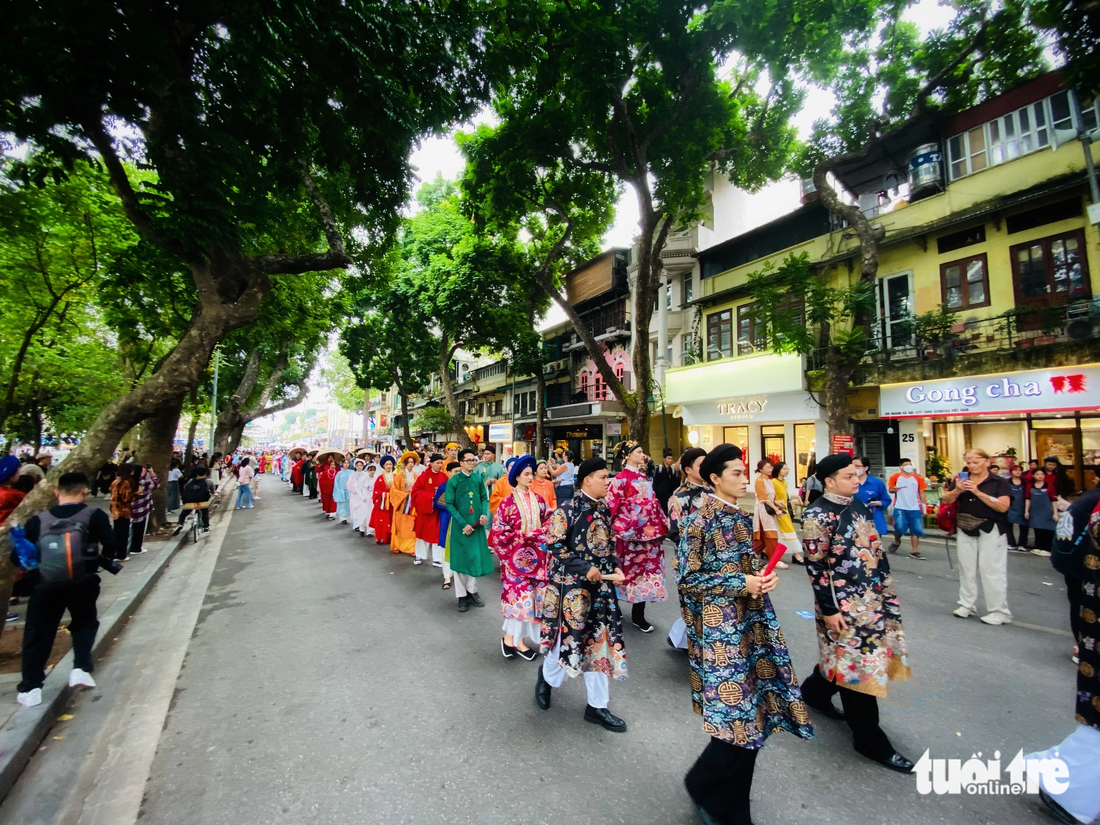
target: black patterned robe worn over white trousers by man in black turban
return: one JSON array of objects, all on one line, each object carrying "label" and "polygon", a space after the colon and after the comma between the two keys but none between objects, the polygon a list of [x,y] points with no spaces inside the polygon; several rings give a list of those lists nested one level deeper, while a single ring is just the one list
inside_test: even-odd
[{"label": "black patterned robe worn over white trousers by man in black turban", "polygon": [[615,585],[584,578],[593,566],[601,573],[614,573],[620,566],[610,526],[607,505],[584,493],[550,517],[550,575],[542,596],[540,649],[549,653],[560,632],[558,659],[570,676],[594,672],[626,679],[623,614]]}]

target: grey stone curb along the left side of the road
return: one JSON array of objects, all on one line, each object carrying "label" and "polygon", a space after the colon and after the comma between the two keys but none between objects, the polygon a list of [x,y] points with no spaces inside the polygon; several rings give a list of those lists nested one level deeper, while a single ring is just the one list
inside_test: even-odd
[{"label": "grey stone curb along the left side of the road", "polygon": [[[156,561],[131,583],[129,598],[124,592],[110,609],[99,617],[99,631],[91,648],[92,656],[98,658],[111,646],[124,623],[145,601],[145,596],[167,569],[173,557],[184,546],[188,532],[190,531],[184,530],[179,536],[168,539]],[[68,686],[68,672],[72,669],[73,651],[69,650],[46,674],[45,684],[42,686],[42,704],[37,707],[21,708],[0,728],[0,801],[11,792],[26,763],[31,761],[31,757],[53,728],[58,712],[73,691]]]}]

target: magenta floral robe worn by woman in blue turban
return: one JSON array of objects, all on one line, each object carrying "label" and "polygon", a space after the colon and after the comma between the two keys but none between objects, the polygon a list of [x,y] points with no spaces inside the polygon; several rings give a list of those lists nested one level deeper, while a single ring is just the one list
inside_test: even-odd
[{"label": "magenta floral robe worn by woman in blue turban", "polygon": [[501,559],[501,613],[506,619],[534,624],[541,617],[550,513],[540,496],[521,490],[497,507],[488,543]]}]

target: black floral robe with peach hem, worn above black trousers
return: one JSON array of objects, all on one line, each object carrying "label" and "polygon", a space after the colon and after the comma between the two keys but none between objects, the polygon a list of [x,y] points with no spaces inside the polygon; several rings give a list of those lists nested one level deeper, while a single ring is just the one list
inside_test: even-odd
[{"label": "black floral robe with peach hem, worn above black trousers", "polygon": [[[875,518],[858,498],[825,493],[802,519],[822,673],[842,688],[886,696],[891,680],[910,676],[909,647]],[[848,624],[839,635],[823,618],[836,613]]]}]

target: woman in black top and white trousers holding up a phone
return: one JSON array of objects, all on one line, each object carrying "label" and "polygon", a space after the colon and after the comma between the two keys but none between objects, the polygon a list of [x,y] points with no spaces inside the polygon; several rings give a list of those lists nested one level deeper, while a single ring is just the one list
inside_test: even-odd
[{"label": "woman in black top and white trousers holding up a phone", "polygon": [[[1009,609],[1009,507],[1012,493],[1009,481],[989,472],[989,453],[968,450],[961,471],[952,490],[939,499],[958,503],[956,524],[959,554],[959,606],[955,615],[978,615],[978,575],[986,594],[987,625],[1008,625]],[[1034,485],[1033,485],[1034,486]]]}]

